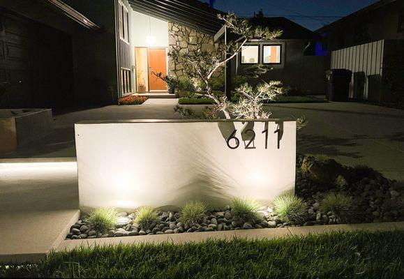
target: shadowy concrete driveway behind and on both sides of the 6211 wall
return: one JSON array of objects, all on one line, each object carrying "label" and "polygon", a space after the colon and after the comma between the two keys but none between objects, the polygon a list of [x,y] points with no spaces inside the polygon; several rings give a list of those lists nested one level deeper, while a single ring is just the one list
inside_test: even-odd
[{"label": "shadowy concrete driveway behind and on both sides of the 6211 wall", "polygon": [[[143,105],[112,105],[54,117],[54,133],[3,158],[75,157],[74,123],[82,120],[178,119],[177,99],[149,99]],[[204,106],[193,105],[195,109]],[[404,181],[404,111],[361,103],[267,105],[275,118],[301,116],[308,126],[298,151],[324,154],[347,165],[368,165]]]}]

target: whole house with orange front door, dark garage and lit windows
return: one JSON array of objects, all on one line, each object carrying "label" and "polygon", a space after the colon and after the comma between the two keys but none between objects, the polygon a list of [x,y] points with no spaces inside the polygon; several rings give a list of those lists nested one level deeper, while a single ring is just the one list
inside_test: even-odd
[{"label": "whole house with orange front door, dark garage and lit windows", "polygon": [[[151,72],[181,77],[184,67],[167,55],[173,47],[212,51],[223,43],[218,13],[197,0],[2,0],[0,82],[15,86],[0,96],[0,107],[107,105],[133,93],[168,97],[167,84]],[[273,69],[264,80],[323,93],[322,57],[313,55],[320,37],[283,17],[252,20],[283,36],[248,45],[226,75],[268,63]]]}]

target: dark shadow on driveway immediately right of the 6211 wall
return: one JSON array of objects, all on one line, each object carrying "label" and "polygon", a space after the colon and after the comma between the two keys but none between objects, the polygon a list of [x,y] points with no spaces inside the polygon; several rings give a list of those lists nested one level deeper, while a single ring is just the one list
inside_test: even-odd
[{"label": "dark shadow on driveway immediately right of the 6211 wall", "polygon": [[361,158],[359,152],[342,151],[339,147],[354,147],[359,144],[339,137],[325,137],[322,135],[299,135],[297,137],[297,148],[299,153],[324,154],[327,156],[345,156],[350,158]]}]

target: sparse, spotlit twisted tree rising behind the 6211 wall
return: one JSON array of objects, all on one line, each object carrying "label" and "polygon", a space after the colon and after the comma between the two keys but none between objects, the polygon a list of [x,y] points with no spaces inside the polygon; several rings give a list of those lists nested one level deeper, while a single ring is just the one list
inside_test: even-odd
[{"label": "sparse, spotlit twisted tree rising behind the 6211 wall", "polygon": [[[170,56],[174,61],[182,63],[187,75],[202,81],[204,95],[214,100],[216,112],[222,112],[227,119],[232,114],[237,118],[266,118],[270,114],[262,110],[262,100],[273,98],[281,93],[280,82],[259,84],[256,87],[244,84],[237,91],[241,93],[239,103],[232,104],[226,96],[217,95],[211,88],[209,80],[212,75],[220,70],[227,61],[234,58],[249,41],[274,40],[282,34],[280,30],[269,30],[267,27],[253,27],[248,20],[239,19],[233,13],[218,15],[223,20],[225,27],[237,36],[236,40],[220,45],[216,50],[207,52],[200,48],[195,51],[181,49],[179,45],[174,47]],[[265,73],[268,68],[260,67],[255,70],[255,76]]]}]

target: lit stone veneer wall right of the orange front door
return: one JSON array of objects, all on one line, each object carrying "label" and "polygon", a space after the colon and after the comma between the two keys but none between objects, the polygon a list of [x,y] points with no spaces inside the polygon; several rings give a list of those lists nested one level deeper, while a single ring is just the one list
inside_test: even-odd
[{"label": "lit stone veneer wall right of the orange front door", "polygon": [[[219,46],[218,43],[214,43],[214,36],[207,33],[202,33],[190,27],[186,27],[181,24],[168,22],[168,45],[171,51],[177,43],[181,47],[181,51],[188,52],[188,50],[197,50],[200,46],[202,51],[213,51]],[[170,74],[177,77],[183,76],[184,67],[178,61],[174,61],[171,57],[168,59],[168,66],[170,68]],[[220,75],[221,71],[218,71],[215,77]]]}]

